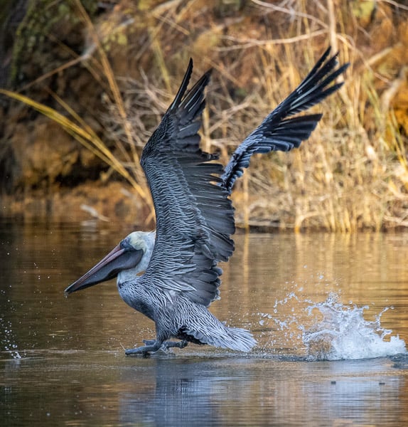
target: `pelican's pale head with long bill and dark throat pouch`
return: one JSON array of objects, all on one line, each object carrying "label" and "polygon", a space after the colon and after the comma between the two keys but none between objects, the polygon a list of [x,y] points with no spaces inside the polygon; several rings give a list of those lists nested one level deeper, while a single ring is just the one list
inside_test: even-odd
[{"label": "pelican's pale head with long bill and dark throat pouch", "polygon": [[116,278],[122,282],[146,270],[154,248],[156,232],[134,231],[99,263],[65,289],[65,295]]}]

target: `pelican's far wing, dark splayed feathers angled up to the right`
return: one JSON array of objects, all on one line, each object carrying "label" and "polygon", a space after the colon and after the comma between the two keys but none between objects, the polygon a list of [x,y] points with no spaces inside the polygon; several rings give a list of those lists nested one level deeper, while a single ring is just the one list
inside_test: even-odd
[{"label": "pelican's far wing, dark splayed feathers angled up to the right", "polygon": [[349,64],[335,70],[338,54],[328,58],[330,51],[329,47],[302,83],[237,147],[221,176],[221,185],[228,192],[232,191],[235,179],[242,176],[242,169],[249,167],[252,154],[286,152],[299,147],[311,135],[321,114],[291,116],[318,104],[343,85],[331,83],[344,73]]}]

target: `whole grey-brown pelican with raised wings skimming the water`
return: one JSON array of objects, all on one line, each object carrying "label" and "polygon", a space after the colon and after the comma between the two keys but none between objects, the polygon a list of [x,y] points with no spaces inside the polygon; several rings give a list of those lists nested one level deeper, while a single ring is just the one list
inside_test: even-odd
[{"label": "whole grey-brown pelican with raised wings skimming the water", "polygon": [[[225,169],[216,162],[217,154],[199,147],[204,89],[211,70],[186,93],[193,70],[190,60],[176,97],[141,156],[156,211],[156,232],[129,234],[65,290],[68,295],[117,276],[124,302],[156,324],[156,339],[144,340],[144,346],[127,349],[126,354],[183,348],[188,342],[243,352],[254,347],[249,331],[227,327],[208,310],[220,295],[218,263],[234,251],[229,196],[252,154],[289,151],[315,129],[321,114],[296,113],[343,84],[335,80],[348,64],[338,68],[337,55],[330,58],[329,53],[330,48],[299,87],[237,147]],[[171,338],[180,341],[167,341]]]}]

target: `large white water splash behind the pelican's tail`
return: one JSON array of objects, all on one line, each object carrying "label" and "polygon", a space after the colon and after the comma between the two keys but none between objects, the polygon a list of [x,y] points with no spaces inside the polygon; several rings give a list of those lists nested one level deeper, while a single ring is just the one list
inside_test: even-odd
[{"label": "large white water splash behind the pelican's tail", "polygon": [[[296,304],[290,307],[290,303]],[[301,307],[299,312],[299,306]],[[279,310],[279,307],[281,310]],[[367,359],[407,353],[403,339],[381,326],[381,317],[392,307],[386,307],[372,321],[363,314],[368,306],[344,305],[337,294],[331,293],[324,302],[301,300],[294,292],[274,305],[274,315],[259,313],[264,325],[269,319],[285,339],[303,347],[308,360]],[[284,318],[281,316],[284,311]],[[306,313],[306,317],[301,315]],[[297,340],[297,344],[296,344]]]}]

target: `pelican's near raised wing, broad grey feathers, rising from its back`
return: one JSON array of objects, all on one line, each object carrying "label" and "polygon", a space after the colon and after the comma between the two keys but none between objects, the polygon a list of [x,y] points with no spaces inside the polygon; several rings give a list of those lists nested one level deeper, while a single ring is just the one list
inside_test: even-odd
[{"label": "pelican's near raised wing, broad grey feathers, rising from its back", "polygon": [[185,292],[210,305],[218,296],[220,260],[234,251],[234,211],[228,192],[218,185],[222,165],[203,152],[198,129],[205,106],[205,73],[186,94],[190,60],[178,93],[144,147],[141,166],[156,211],[156,243],[144,280]]}]

